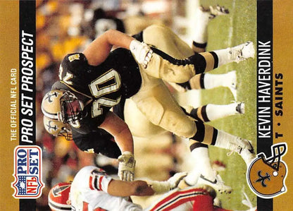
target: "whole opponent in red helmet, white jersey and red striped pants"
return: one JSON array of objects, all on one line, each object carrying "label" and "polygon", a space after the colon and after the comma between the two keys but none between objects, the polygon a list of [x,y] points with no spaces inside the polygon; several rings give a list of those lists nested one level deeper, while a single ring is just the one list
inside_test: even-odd
[{"label": "whole opponent in red helmet, white jersey and red striped pants", "polygon": [[48,203],[51,210],[143,210],[131,202],[131,195],[166,193],[144,210],[224,210],[213,207],[216,192],[209,186],[176,188],[184,176],[182,172],[168,181],[129,182],[113,179],[97,167],[83,167],[72,183],[58,183],[51,188]]}]

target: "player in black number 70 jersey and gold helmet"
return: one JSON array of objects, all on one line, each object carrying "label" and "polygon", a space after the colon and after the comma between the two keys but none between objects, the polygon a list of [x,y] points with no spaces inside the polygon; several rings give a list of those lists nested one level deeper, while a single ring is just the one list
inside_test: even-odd
[{"label": "player in black number 70 jersey and gold helmet", "polygon": [[[181,58],[170,56],[153,47],[161,40],[154,34],[161,35],[166,30],[174,38],[166,40],[167,48],[172,44],[185,45],[171,30],[155,25],[134,37],[108,30],[82,53],[68,54],[61,62],[60,80],[43,98],[44,115],[69,123],[73,131],[80,134],[96,128],[111,133],[122,152],[118,174],[127,181],[133,180],[135,170],[132,134],[127,124],[109,111],[127,98],[131,98],[154,125],[189,138],[191,151],[198,142],[216,145],[238,152],[249,164],[254,158],[249,140],[190,119],[163,80],[185,83],[196,74],[254,57],[253,43],[199,54],[184,52],[182,48],[184,59],[182,54]],[[121,48],[111,52],[113,45]]]}]

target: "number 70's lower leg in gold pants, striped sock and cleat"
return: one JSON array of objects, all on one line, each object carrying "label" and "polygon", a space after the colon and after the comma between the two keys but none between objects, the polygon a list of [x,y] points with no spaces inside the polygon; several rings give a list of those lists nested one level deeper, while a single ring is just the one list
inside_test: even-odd
[{"label": "number 70's lower leg in gold pants, striped sock and cleat", "polygon": [[142,88],[132,97],[137,108],[156,126],[175,135],[190,139],[190,150],[194,144],[215,145],[238,152],[244,161],[250,164],[254,150],[248,140],[230,135],[212,126],[190,119],[179,107],[162,80],[142,73]]}]

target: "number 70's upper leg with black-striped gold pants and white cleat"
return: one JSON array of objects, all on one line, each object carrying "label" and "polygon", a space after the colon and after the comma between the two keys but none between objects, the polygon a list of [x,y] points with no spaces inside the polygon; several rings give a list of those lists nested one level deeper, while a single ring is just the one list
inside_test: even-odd
[{"label": "number 70's upper leg with black-striped gold pants and white cleat", "polygon": [[196,53],[187,59],[175,59],[159,49],[154,47],[151,49],[153,53],[146,68],[139,66],[149,76],[173,83],[185,83],[196,74],[211,71],[233,61],[239,62],[254,57],[252,42],[213,52]]}]

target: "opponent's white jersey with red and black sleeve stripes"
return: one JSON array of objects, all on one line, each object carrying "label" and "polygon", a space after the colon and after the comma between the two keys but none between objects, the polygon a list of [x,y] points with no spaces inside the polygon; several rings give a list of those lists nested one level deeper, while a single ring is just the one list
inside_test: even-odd
[{"label": "opponent's white jersey with red and black sleeve stripes", "polygon": [[109,195],[108,184],[111,176],[98,167],[84,167],[76,174],[71,184],[70,200],[73,210],[142,210],[142,207],[131,203],[128,198]]}]

